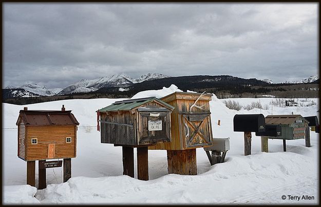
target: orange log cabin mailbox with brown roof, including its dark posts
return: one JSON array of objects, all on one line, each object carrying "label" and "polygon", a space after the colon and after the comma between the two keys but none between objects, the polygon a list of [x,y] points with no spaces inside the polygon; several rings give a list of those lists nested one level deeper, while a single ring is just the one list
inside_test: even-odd
[{"label": "orange log cabin mailbox with brown roof, including its dark posts", "polygon": [[63,105],[61,111],[20,110],[17,155],[27,162],[27,184],[35,187],[35,161],[39,160],[38,189],[46,188],[46,168],[62,167],[66,182],[71,177],[71,158],[76,157],[79,122]]}]

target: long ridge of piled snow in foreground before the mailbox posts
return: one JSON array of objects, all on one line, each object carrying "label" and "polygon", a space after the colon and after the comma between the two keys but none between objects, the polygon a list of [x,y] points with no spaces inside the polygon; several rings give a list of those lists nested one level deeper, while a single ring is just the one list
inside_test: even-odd
[{"label": "long ridge of piled snow in foreground before the mailbox posts", "polygon": [[[302,182],[302,176],[310,181]],[[299,184],[316,185],[315,179],[315,165],[307,156],[291,152],[258,153],[230,158],[198,176],[170,174],[149,181],[129,176],[74,177],[66,183],[48,185],[36,198],[41,203],[84,204],[260,203],[261,194],[276,194],[280,199],[284,191]]]}]

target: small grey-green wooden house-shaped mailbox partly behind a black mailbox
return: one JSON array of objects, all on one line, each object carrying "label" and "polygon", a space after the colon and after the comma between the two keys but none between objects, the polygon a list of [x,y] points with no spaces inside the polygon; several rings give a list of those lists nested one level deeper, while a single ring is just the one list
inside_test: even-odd
[{"label": "small grey-green wooden house-shaped mailbox partly behind a black mailbox", "polygon": [[281,136],[273,139],[304,139],[309,121],[301,115],[268,115],[267,125],[281,125]]}]

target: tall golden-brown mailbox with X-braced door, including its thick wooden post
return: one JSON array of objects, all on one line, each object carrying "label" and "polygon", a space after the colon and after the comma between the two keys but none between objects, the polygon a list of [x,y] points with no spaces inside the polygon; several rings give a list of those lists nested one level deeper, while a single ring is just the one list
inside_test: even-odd
[{"label": "tall golden-brown mailbox with X-braced door, including its thick wooden post", "polygon": [[168,173],[196,175],[196,148],[213,143],[209,104],[212,94],[175,92],[161,100],[175,107],[171,114],[172,141],[148,149],[167,150]]}]

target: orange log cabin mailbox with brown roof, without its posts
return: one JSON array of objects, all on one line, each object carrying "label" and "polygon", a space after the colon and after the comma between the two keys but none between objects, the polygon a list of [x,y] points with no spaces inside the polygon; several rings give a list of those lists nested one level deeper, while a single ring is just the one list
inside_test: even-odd
[{"label": "orange log cabin mailbox with brown roof, without its posts", "polygon": [[21,110],[18,126],[18,157],[25,161],[74,158],[78,120],[71,111]]}]

